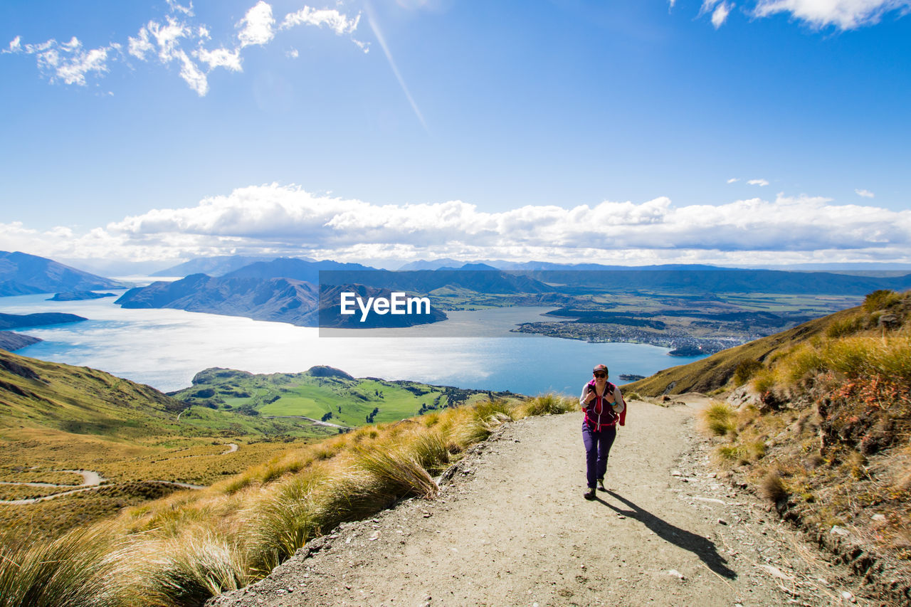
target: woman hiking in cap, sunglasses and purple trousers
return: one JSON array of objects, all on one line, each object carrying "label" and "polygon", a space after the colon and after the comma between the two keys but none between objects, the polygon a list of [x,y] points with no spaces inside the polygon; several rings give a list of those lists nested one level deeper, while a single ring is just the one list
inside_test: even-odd
[{"label": "woman hiking in cap, sunglasses and purple trousers", "polygon": [[604,474],[608,470],[610,446],[617,437],[617,423],[623,425],[626,405],[620,389],[608,381],[608,367],[596,365],[592,369],[592,380],[582,387],[578,404],[585,411],[582,422],[582,442],[585,444],[585,461],[589,490],[585,499],[595,499],[596,483],[602,491]]}]

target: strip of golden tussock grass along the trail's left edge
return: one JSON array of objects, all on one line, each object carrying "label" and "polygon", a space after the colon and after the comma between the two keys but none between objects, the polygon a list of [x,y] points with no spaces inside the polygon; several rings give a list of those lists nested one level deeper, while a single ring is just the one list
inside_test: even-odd
[{"label": "strip of golden tussock grass along the trail's left edge", "polygon": [[527,405],[484,401],[362,427],[57,540],[2,544],[0,607],[201,604],[268,574],[345,520],[398,499],[433,498],[432,475],[471,444],[531,411],[564,406],[552,396]]}]

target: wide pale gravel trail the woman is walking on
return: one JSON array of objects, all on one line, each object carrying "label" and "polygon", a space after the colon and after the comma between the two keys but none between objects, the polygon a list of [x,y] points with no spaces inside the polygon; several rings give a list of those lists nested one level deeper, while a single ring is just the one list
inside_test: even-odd
[{"label": "wide pale gravel trail the woman is walking on", "polygon": [[870,604],[766,505],[714,478],[690,405],[630,404],[599,499],[581,414],[501,427],[440,498],[347,523],[218,607]]}]

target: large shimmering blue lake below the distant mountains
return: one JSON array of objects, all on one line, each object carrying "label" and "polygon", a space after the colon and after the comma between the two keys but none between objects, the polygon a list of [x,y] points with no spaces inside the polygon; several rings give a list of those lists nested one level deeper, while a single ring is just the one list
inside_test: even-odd
[{"label": "large shimmering blue lake below the distant mountains", "polygon": [[114,304],[114,297],[48,302],[49,296],[3,297],[0,312],[60,312],[89,320],[16,329],[45,340],[16,354],[90,366],[162,391],[187,387],[197,372],[212,366],[296,373],[331,365],[358,377],[577,395],[594,365],[608,365],[611,379],[622,384],[620,374],[650,376],[703,357],[669,356],[668,348],[653,345],[589,344],[509,332],[518,323],[542,320],[540,314],[553,309],[543,307],[447,313],[449,320],[441,323],[333,330],[332,336],[321,336],[317,328],[235,316],[125,310]]}]

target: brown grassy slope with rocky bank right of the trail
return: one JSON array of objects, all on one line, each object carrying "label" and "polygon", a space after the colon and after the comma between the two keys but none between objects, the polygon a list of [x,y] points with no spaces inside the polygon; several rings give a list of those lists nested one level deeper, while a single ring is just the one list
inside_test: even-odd
[{"label": "brown grassy slope with rocky bank right of the trail", "polygon": [[703,416],[725,474],[911,602],[911,292],[875,291],[626,390],[727,396]]}]

